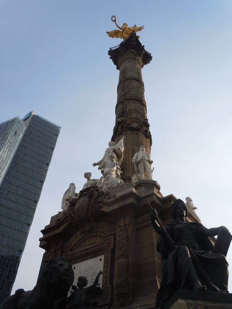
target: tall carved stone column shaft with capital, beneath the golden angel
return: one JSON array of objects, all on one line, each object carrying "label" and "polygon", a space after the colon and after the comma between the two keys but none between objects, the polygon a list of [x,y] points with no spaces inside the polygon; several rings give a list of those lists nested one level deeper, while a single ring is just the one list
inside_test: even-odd
[{"label": "tall carved stone column shaft with capital, beneath the golden angel", "polygon": [[135,32],[108,52],[119,73],[116,121],[113,136],[115,144],[124,136],[124,158],[121,164],[122,180],[131,181],[135,174],[131,160],[139,147],[144,145],[150,154],[152,138],[144,99],[141,70],[151,60],[151,54],[138,40]]}]

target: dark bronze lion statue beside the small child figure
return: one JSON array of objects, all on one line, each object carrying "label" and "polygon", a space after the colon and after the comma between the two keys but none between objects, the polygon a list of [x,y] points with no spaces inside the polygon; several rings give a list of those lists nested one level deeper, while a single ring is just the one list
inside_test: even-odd
[{"label": "dark bronze lion statue beside the small child figure", "polygon": [[73,281],[72,265],[63,257],[51,259],[32,291],[17,290],[0,309],[64,309]]}]

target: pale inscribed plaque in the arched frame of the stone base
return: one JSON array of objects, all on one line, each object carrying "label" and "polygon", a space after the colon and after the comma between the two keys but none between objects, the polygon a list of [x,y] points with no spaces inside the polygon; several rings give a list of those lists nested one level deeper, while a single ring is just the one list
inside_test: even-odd
[{"label": "pale inscribed plaque in the arched frame of the stone base", "polygon": [[[99,273],[99,271],[103,270],[103,265],[104,265],[104,254],[92,257],[91,259],[82,262],[72,264],[72,268],[74,271],[73,285],[76,286],[79,276],[84,276],[88,279],[87,286],[90,286],[91,284],[93,284],[93,281],[96,279],[96,276]],[[98,283],[99,286],[102,287],[102,275],[100,276]]]}]

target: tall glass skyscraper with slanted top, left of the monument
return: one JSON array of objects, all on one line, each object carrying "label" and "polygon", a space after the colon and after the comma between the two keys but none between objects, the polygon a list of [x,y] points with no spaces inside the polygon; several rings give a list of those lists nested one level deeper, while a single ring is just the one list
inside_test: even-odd
[{"label": "tall glass skyscraper with slanted top, left of the monument", "polygon": [[11,294],[59,132],[34,112],[0,124],[0,304]]}]

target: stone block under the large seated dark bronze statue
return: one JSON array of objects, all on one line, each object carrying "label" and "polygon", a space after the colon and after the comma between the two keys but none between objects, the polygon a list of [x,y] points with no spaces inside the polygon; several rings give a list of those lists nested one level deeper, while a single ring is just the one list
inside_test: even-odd
[{"label": "stone block under the large seated dark bronze statue", "polygon": [[165,309],[231,309],[232,294],[178,290]]}]

